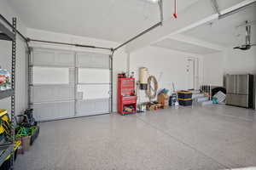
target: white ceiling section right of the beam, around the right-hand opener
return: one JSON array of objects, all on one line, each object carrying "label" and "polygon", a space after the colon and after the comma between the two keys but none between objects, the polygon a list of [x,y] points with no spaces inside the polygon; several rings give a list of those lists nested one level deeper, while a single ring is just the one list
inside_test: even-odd
[{"label": "white ceiling section right of the beam, around the right-hand opener", "polygon": [[[234,0],[236,2],[238,0]],[[218,1],[219,4],[224,1]],[[221,3],[222,2],[222,3]],[[235,4],[235,3],[234,3]],[[222,4],[224,5],[224,4]],[[183,32],[183,35],[195,37],[207,42],[216,43],[224,47],[241,45],[245,43],[245,27],[240,26],[245,20],[256,20],[256,5],[253,5],[239,13],[232,14],[221,20],[214,20],[192,30]],[[252,42],[256,42],[256,26],[252,26]]]}]

